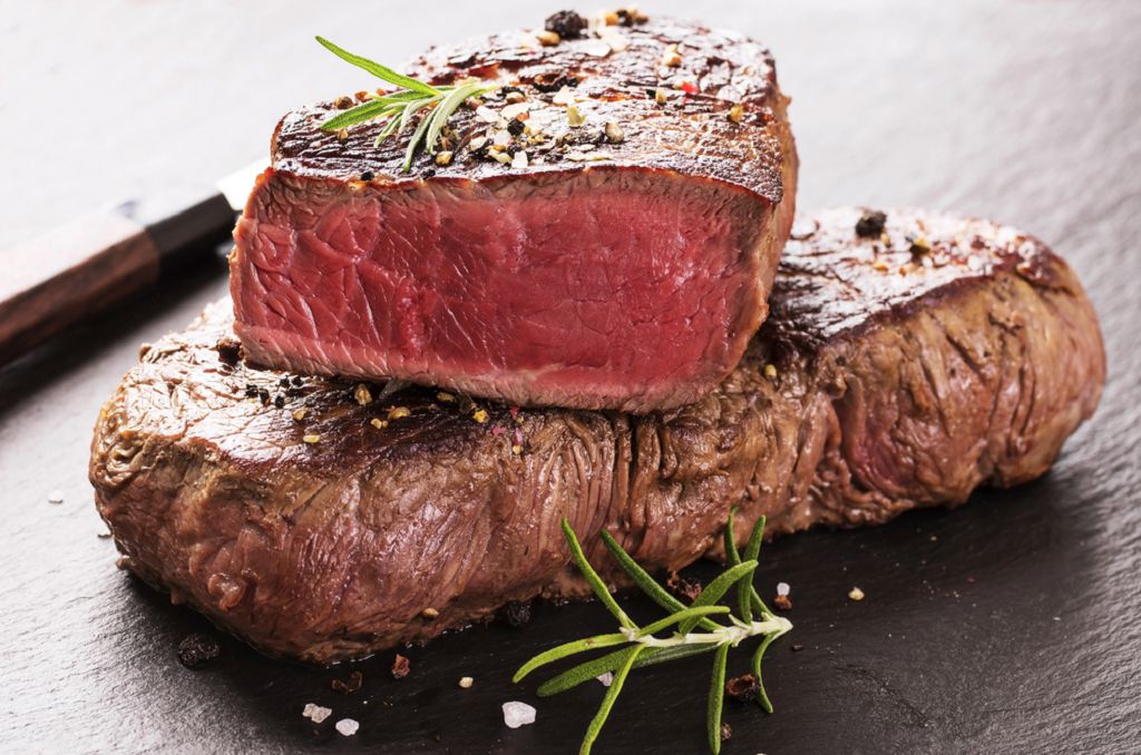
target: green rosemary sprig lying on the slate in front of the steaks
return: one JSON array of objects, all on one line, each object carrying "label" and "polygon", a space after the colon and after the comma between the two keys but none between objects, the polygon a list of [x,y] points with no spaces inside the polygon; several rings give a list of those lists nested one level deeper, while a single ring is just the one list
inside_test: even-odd
[{"label": "green rosemary sprig lying on the slate in front of the steaks", "polygon": [[[575,642],[567,642],[542,652],[525,663],[516,672],[513,681],[519,682],[536,668],[580,652],[625,646],[593,660],[578,664],[539,687],[539,695],[545,697],[565,692],[606,672],[614,674],[614,680],[610,682],[610,687],[602,698],[602,704],[586,729],[586,736],[583,738],[578,750],[580,755],[588,755],[590,753],[594,740],[598,739],[598,734],[602,730],[602,725],[610,715],[615,700],[622,692],[630,672],[644,666],[677,660],[702,652],[714,653],[713,675],[710,679],[710,691],[706,700],[705,723],[710,750],[714,755],[718,755],[721,750],[721,712],[725,705],[725,676],[728,666],[729,649],[754,636],[763,638],[753,655],[752,664],[760,691],[759,700],[767,712],[772,712],[772,705],[769,703],[769,698],[764,692],[764,684],[761,682],[761,658],[763,658],[764,651],[768,650],[774,640],[792,628],[792,624],[788,619],[774,615],[753,587],[756,557],[760,553],[761,538],[764,534],[764,517],[758,519],[756,525],[753,527],[748,543],[745,545],[745,558],[742,560],[741,554],[737,552],[733,534],[733,520],[736,513],[737,510],[734,509],[729,513],[729,521],[726,523],[725,550],[728,568],[707,584],[689,606],[686,606],[671,595],[645,569],[638,566],[608,533],[605,530],[601,533],[602,543],[633,583],[650,600],[670,611],[665,618],[647,624],[644,627],[639,627],[617,604],[601,577],[598,576],[598,573],[594,571],[593,567],[586,560],[585,554],[583,554],[582,546],[578,544],[578,538],[575,537],[570,525],[566,519],[563,520],[563,534],[566,536],[567,545],[570,547],[570,554],[575,565],[588,584],[590,584],[591,590],[598,595],[598,599],[617,619],[618,631],[610,634],[585,638]],[[734,587],[736,587],[739,616],[734,616],[727,606],[718,604]],[[759,620],[753,619],[754,610],[759,616]],[[720,616],[727,616],[729,624],[721,624],[714,620],[714,617]],[[655,636],[658,632],[670,627],[675,627],[675,631],[669,636]]]}]

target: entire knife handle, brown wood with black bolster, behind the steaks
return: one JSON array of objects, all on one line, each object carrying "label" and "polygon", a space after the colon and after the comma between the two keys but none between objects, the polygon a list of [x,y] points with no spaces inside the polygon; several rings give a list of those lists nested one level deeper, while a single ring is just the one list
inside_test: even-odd
[{"label": "entire knife handle, brown wood with black bolster, behind the steaks", "polygon": [[151,286],[160,270],[233,227],[221,195],[143,225],[120,211],[84,216],[0,252],[0,365]]}]

